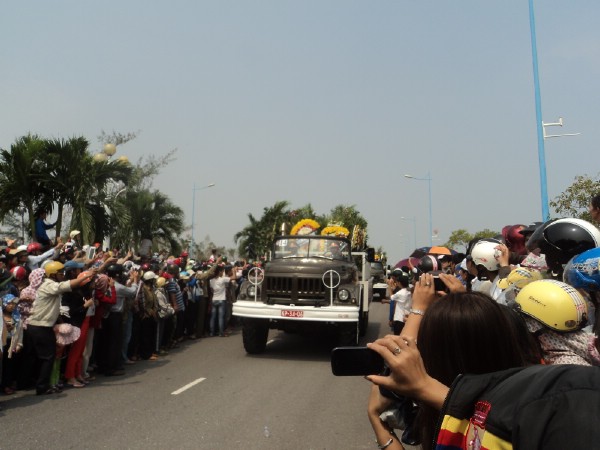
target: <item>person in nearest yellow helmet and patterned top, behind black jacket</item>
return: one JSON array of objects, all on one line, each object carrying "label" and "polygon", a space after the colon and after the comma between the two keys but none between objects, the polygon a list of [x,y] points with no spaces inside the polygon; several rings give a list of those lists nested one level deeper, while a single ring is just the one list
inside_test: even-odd
[{"label": "person in nearest yellow helmet and patterned top, behind black jacket", "polygon": [[587,323],[587,302],[575,288],[557,280],[533,281],[519,291],[515,301],[546,364],[600,365],[595,336],[582,330]]}]

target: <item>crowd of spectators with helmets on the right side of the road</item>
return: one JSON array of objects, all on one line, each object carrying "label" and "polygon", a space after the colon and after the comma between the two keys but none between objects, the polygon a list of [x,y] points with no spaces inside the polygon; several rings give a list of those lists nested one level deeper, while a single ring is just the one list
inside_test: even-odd
[{"label": "crowd of spectators with helmets on the right side of the road", "polygon": [[[600,195],[589,212],[600,222]],[[394,334],[368,344],[386,363],[367,377],[377,448],[589,448],[600,439],[593,223],[506,226],[458,258],[426,255],[395,270],[388,284]]]}]

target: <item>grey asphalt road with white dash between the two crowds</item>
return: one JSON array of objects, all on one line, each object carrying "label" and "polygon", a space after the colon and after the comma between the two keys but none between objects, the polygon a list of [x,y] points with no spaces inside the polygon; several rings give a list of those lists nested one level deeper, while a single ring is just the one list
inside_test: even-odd
[{"label": "grey asphalt road with white dash between the two crowds", "polygon": [[[373,303],[364,342],[388,332],[387,311]],[[3,396],[0,448],[372,449],[370,384],[334,377],[332,346],[272,330],[265,354],[249,356],[238,329],[83,389]]]}]

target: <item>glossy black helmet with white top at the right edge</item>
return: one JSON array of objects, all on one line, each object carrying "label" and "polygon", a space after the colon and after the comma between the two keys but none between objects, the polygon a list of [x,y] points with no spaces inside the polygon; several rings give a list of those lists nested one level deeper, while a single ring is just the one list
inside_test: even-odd
[{"label": "glossy black helmet with white top at the right edge", "polygon": [[575,255],[600,246],[600,230],[582,219],[554,219],[539,227],[527,241],[529,251],[539,248],[548,267],[562,272]]}]

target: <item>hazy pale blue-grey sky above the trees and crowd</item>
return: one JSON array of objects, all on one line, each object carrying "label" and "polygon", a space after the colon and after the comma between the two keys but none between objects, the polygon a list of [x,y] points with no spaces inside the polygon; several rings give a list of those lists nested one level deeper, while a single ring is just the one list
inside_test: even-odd
[{"label": "hazy pale blue-grey sky above the trees and crowd", "polygon": [[[581,133],[545,142],[552,199],[600,171],[600,2],[534,7],[542,119]],[[542,220],[526,0],[31,0],[0,30],[0,148],[176,149],[153,188],[196,241],[283,200],[354,205],[390,262],[429,245],[430,206],[434,245]]]}]

